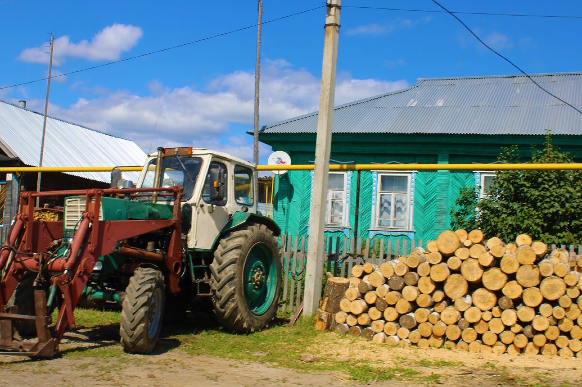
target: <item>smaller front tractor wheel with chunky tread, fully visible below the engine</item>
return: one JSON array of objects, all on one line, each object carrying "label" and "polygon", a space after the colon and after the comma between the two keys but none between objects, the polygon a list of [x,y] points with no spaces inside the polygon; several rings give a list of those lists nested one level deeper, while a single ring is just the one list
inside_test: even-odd
[{"label": "smaller front tractor wheel with chunky tread, fully visible below the engine", "polygon": [[164,275],[157,269],[137,268],[125,289],[119,335],[129,353],[150,353],[158,340],[165,301]]}]

